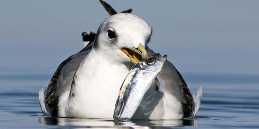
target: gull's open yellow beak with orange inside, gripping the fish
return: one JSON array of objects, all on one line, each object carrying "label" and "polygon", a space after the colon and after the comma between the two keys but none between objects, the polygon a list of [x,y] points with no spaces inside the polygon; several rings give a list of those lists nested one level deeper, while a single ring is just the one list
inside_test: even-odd
[{"label": "gull's open yellow beak with orange inside, gripping the fish", "polygon": [[129,57],[131,62],[134,63],[135,65],[141,61],[141,57],[143,57],[143,59],[146,60],[146,62],[148,60],[147,51],[141,43],[139,44],[139,46],[137,48],[122,47],[121,51],[123,53],[125,53]]}]

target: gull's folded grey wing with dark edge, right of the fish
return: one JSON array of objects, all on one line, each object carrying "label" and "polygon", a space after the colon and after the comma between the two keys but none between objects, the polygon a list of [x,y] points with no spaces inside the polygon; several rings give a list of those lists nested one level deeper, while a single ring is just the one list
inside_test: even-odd
[{"label": "gull's folded grey wing with dark edge, right of the fish", "polygon": [[[148,56],[156,54],[149,47],[146,47]],[[182,75],[168,60],[165,62],[161,72],[157,75],[157,84],[176,97],[182,103],[183,118],[194,116],[195,104]]]}]

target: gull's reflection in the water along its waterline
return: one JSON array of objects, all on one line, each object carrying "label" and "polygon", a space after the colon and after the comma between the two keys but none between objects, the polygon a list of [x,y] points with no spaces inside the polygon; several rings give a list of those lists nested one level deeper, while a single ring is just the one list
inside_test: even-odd
[{"label": "gull's reflection in the water along its waterline", "polygon": [[172,126],[196,126],[197,120],[112,120],[112,119],[90,119],[90,118],[62,118],[62,117],[39,117],[39,123],[46,125],[58,125],[62,127],[172,127]]}]

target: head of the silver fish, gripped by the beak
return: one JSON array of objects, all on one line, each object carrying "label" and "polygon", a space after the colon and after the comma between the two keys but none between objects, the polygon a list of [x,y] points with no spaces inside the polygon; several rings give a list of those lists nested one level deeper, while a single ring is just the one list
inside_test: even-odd
[{"label": "head of the silver fish, gripped by the beak", "polygon": [[148,57],[148,61],[142,60],[139,62],[139,66],[141,69],[145,69],[153,72],[160,72],[165,61],[167,59],[167,55],[161,56],[159,53]]}]

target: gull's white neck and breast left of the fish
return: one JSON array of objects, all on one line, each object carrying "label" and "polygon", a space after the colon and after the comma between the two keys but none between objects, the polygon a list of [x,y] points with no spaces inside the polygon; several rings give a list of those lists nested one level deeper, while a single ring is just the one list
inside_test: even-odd
[{"label": "gull's white neck and breast left of the fish", "polygon": [[[80,114],[82,112],[78,111],[79,109],[74,110],[79,113],[78,117],[87,115],[87,117],[112,118],[119,89],[133,65],[111,62],[104,54],[91,51],[74,75],[69,95],[70,104],[72,107],[80,107],[80,110],[89,111]],[[102,112],[101,116],[96,116],[98,112],[99,114]]]}]

